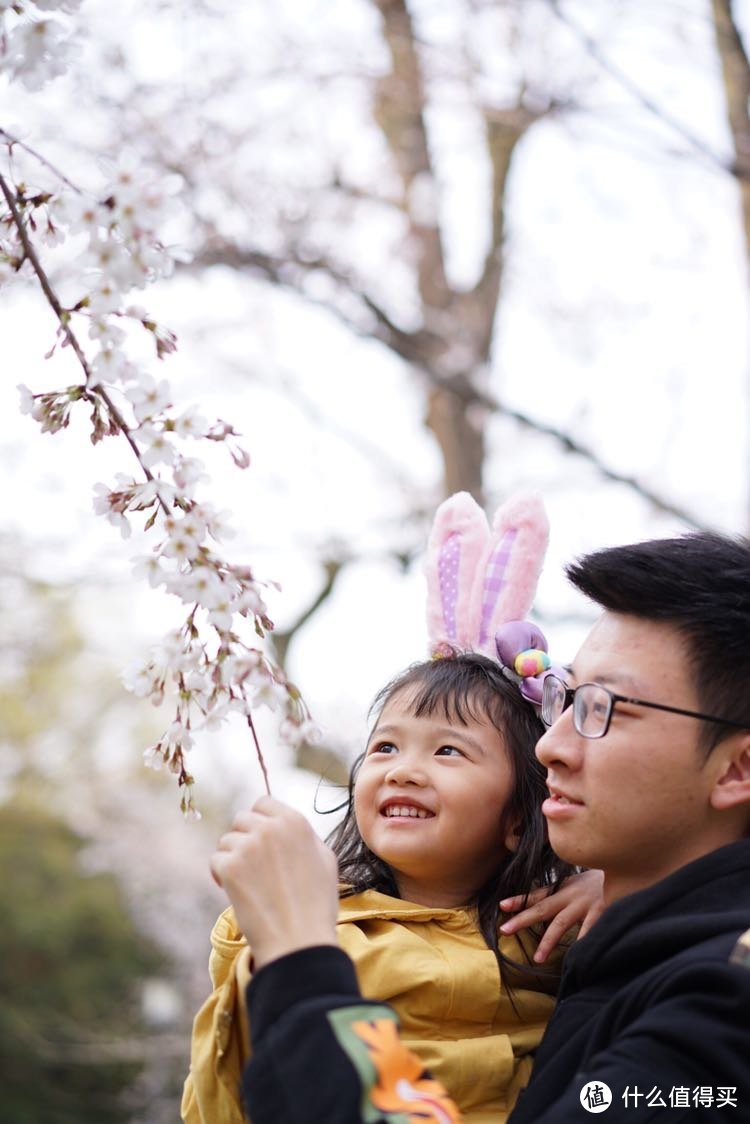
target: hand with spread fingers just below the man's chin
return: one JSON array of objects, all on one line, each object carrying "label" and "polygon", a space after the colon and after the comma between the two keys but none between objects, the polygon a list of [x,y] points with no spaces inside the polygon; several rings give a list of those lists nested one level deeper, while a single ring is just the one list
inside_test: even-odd
[{"label": "hand with spread fingers just below the man's chin", "polygon": [[504,898],[500,909],[506,913],[521,909],[521,913],[504,922],[500,933],[509,936],[522,928],[545,922],[546,930],[534,953],[535,963],[542,964],[560,943],[563,933],[580,922],[578,937],[585,936],[604,913],[603,886],[604,874],[600,870],[585,870],[582,874],[566,878],[557,894],[550,894],[549,888],[542,887],[528,896],[517,894],[514,898]]}]

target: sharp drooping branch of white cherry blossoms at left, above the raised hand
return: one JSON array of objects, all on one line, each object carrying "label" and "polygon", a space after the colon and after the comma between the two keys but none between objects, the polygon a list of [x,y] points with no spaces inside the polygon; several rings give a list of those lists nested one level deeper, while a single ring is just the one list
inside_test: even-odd
[{"label": "sharp drooping branch of white cherry blossoms at left, above the raised hand", "polygon": [[[153,234],[164,193],[128,167],[119,171],[103,201],[90,200],[78,189],[73,200],[64,193],[29,194],[2,174],[0,190],[8,207],[7,215],[0,216],[0,283],[19,275],[28,264],[57,319],[57,336],[72,348],[85,377],[83,384],[60,391],[35,395],[19,388],[21,409],[40,423],[43,432],[54,434],[67,426],[73,405],[85,401],[92,408],[93,443],[120,434],[126,438],[145,481],[119,474],[114,488],[97,484],[94,509],[124,536],[130,533],[134,515],[148,513],[144,531],[157,537],[137,569],[153,587],[163,587],[188,608],[184,624],[156,645],[145,665],[126,677],[126,686],[136,695],[160,704],[169,691],[175,703],[172,723],[146,751],[145,761],[155,768],[166,764],[177,774],[183,790],[182,810],[197,816],[193,778],[186,762],[193,735],[238,713],[250,728],[270,791],[253,711],[257,707],[279,711],[281,740],[295,747],[314,744],[319,732],[298,689],[256,646],[273,628],[263,599],[266,583],[250,566],[217,553],[214,544],[222,537],[222,517],[211,505],[198,500],[196,489],[206,473],[202,463],[186,455],[179,443],[223,442],[238,468],[246,468],[250,459],[234,444],[237,434],[232,425],[209,424],[193,409],[179,416],[171,413],[169,384],[127,357],[127,334],[118,323],[125,318],[148,332],[160,361],[177,347],[171,332],[142,308],[125,303],[132,288],[171,270],[171,255]],[[55,292],[37,246],[39,237],[56,244],[66,234],[88,236],[80,273],[75,268],[67,271],[88,291],[67,308]],[[93,359],[74,330],[76,317],[78,323],[88,320],[89,338],[99,347]],[[123,395],[133,420],[116,405],[105,380]],[[152,471],[155,466],[159,470]]]}]

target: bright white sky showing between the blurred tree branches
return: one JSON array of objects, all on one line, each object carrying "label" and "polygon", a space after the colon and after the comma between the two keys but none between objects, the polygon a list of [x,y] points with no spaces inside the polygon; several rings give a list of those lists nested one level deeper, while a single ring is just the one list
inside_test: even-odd
[{"label": "bright white sky showing between the blurred tree branches", "polygon": [[[237,10],[236,21],[211,24],[215,49],[225,46],[229,57],[244,27],[262,62],[266,6],[235,7],[244,9],[242,18]],[[448,48],[463,4],[422,0],[416,7],[423,34]],[[530,6],[528,18],[542,8]],[[606,30],[607,58],[651,100],[711,149],[729,152],[707,2],[632,3],[626,16],[623,6],[598,0],[566,10],[593,31]],[[92,35],[119,37],[134,69],[156,89],[168,80],[189,84],[196,33],[184,6],[165,3],[148,16],[135,0],[118,4],[116,13],[103,0],[89,0],[83,12]],[[281,16],[290,36],[315,33],[318,62],[325,60],[326,36],[337,31],[370,44],[377,55],[370,42],[377,24],[363,2],[305,0],[280,6]],[[145,27],[151,37],[144,37]],[[540,22],[540,66],[555,58],[550,34],[549,19]],[[560,27],[555,34],[560,64],[575,76],[569,33]],[[746,531],[748,291],[735,184],[706,160],[688,158],[684,138],[611,73],[590,57],[585,65],[586,102],[590,109],[598,100],[600,116],[572,112],[534,126],[515,160],[491,392],[510,408],[575,433],[607,465],[640,478],[698,522]],[[9,121],[10,128],[28,116],[65,166],[66,129],[75,144],[85,132],[85,112],[74,121],[55,120],[56,99],[64,106],[66,97],[63,83],[31,99],[27,115],[17,94],[0,85],[0,125]],[[332,112],[328,127],[340,130],[355,158],[360,140],[368,142],[356,133],[354,109],[342,101],[336,116],[334,102]],[[453,279],[468,284],[487,236],[480,206],[487,169],[478,156],[477,123],[470,107],[449,100],[431,124],[444,173],[449,264]],[[79,161],[85,167],[71,151],[76,167]],[[283,152],[275,156],[282,162]],[[377,229],[355,228],[347,237],[364,259],[382,250]],[[398,287],[397,270],[394,279]],[[199,280],[182,274],[142,299],[180,337],[180,351],[163,372],[179,402],[197,402],[201,413],[226,418],[245,435],[251,469],[241,473],[220,450],[210,450],[206,496],[232,511],[233,555],[281,581],[282,593],[271,601],[280,626],[317,591],[313,555],[320,544],[346,543],[359,559],[300,633],[290,665],[316,717],[354,746],[374,691],[426,646],[421,568],[403,573],[383,558],[399,536],[409,537],[403,514],[409,497],[440,499],[440,463],[422,426],[419,388],[382,347],[355,338],[331,315],[228,270]],[[123,542],[92,511],[93,483],[133,471],[129,452],[114,441],[92,447],[82,418],[48,437],[20,417],[16,383],[38,391],[76,378],[65,356],[43,360],[54,324],[36,294],[3,290],[0,336],[0,533],[18,537],[29,572],[75,581],[92,650],[130,662],[178,617],[164,595],[130,577],[138,544]],[[584,459],[563,455],[550,438],[507,418],[491,422],[490,443],[490,499],[534,487],[546,500],[552,534],[537,609],[554,651],[568,659],[590,614],[566,589],[562,563],[599,545],[685,526],[627,488],[605,484]],[[270,731],[265,736],[272,740]],[[210,735],[196,751],[199,792],[217,776],[220,783],[232,778],[237,803],[257,789],[245,742],[242,732],[229,731]],[[222,760],[233,762],[218,771],[217,743]],[[278,758],[270,755],[270,764],[272,780],[278,769],[278,795],[307,810],[311,782],[292,778]]]}]

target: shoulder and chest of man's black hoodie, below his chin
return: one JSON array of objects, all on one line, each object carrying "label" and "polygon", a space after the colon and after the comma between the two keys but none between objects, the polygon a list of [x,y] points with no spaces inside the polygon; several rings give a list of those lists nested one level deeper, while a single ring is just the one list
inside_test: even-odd
[{"label": "shoulder and chest of man's black hoodie, below his chin", "polygon": [[587,1082],[611,1089],[606,1124],[750,1122],[750,970],[731,959],[749,927],[750,841],[612,905],[566,958],[510,1124],[589,1120]]}]

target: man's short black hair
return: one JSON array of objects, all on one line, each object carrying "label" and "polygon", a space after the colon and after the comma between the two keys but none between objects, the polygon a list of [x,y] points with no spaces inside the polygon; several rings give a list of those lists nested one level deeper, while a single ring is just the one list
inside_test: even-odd
[{"label": "man's short black hair", "polygon": [[[701,709],[750,728],[747,538],[697,532],[612,546],[566,572],[604,609],[672,625],[687,644]],[[708,723],[706,752],[729,733],[731,727]]]}]

